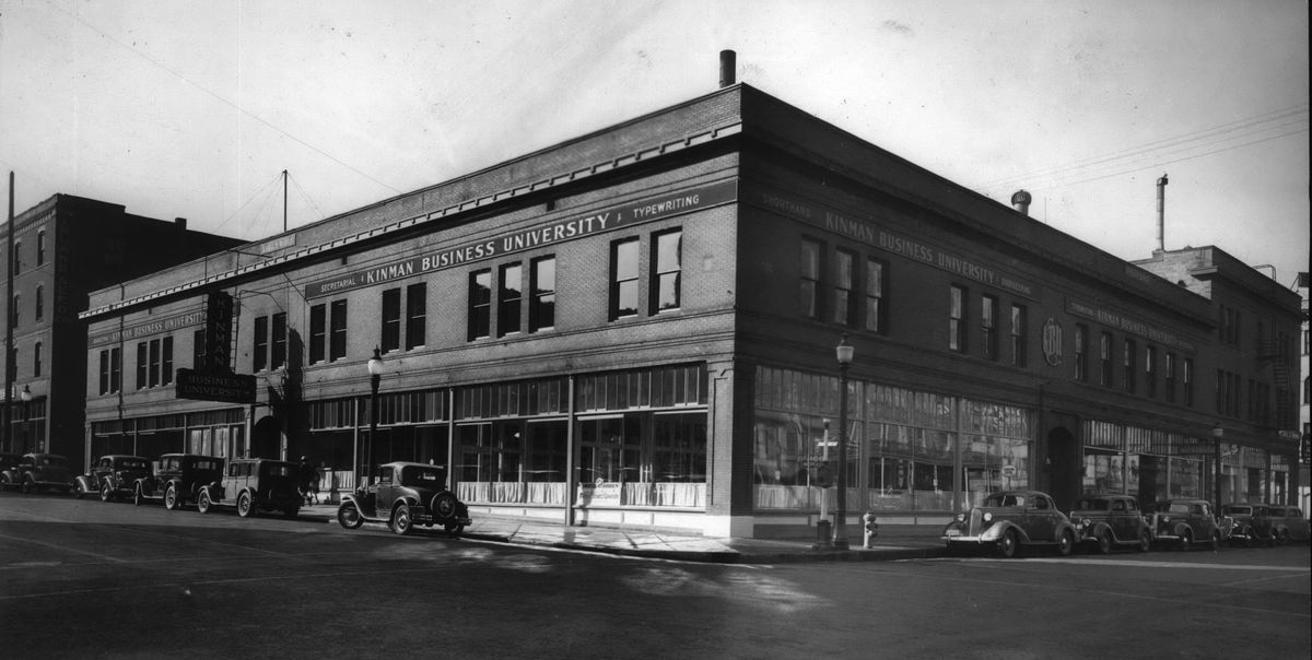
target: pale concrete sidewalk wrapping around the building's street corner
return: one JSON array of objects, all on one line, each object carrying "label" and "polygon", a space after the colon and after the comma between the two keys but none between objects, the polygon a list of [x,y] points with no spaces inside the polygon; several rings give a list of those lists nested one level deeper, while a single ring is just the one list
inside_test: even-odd
[{"label": "pale concrete sidewalk wrapping around the building's street corner", "polygon": [[[316,504],[300,509],[300,517],[337,524],[337,506]],[[548,521],[475,517],[462,537],[497,543],[520,543],[583,550],[625,556],[677,559],[726,564],[777,564],[790,562],[870,562],[942,556],[938,525],[882,525],[872,547],[862,547],[861,527],[851,530],[848,551],[815,550],[815,539],[711,538],[646,529],[567,527]]]}]

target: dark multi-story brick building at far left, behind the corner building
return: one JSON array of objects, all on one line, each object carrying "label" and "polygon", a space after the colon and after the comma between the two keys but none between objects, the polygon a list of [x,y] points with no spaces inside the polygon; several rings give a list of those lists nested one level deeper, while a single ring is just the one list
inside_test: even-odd
[{"label": "dark multi-story brick building at far left, behind the corner building", "polygon": [[10,342],[8,357],[0,352],[8,391],[0,450],[52,451],[81,464],[87,328],[77,314],[88,293],[241,241],[68,194],[14,215],[3,231],[13,247],[0,251],[10,287],[0,297]]}]

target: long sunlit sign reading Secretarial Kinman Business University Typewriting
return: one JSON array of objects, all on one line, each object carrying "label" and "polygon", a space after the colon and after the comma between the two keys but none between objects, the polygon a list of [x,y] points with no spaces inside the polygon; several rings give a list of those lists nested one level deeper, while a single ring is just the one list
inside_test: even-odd
[{"label": "long sunlit sign reading Secretarial Kinman Business University Typewriting", "polygon": [[693,188],[673,194],[630,202],[602,209],[590,215],[568,218],[559,222],[521,230],[502,236],[463,243],[450,248],[437,249],[426,255],[392,261],[380,266],[356,270],[332,279],[311,282],[306,286],[306,298],[332,295],[362,286],[373,286],[394,279],[403,279],[421,273],[454,268],[462,264],[496,258],[514,252],[580,239],[593,234],[618,230],[644,222],[668,218],[689,211],[697,211],[731,202],[737,198],[737,181],[724,181],[702,188]]}]

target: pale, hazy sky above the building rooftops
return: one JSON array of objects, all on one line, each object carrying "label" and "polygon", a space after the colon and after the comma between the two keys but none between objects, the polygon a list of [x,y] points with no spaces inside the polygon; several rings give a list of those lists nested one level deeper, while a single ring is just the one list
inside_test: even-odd
[{"label": "pale, hazy sky above the building rooftops", "polygon": [[[737,80],[1124,260],[1308,270],[1304,0],[0,0],[0,168],[260,240]],[[286,206],[283,205],[283,176]]]}]

